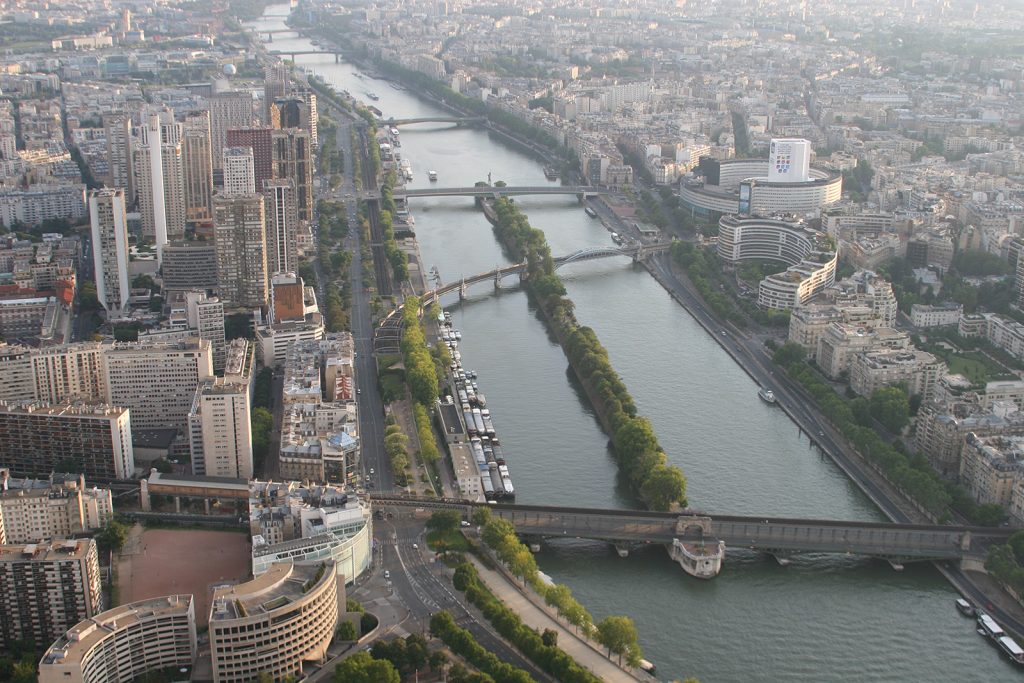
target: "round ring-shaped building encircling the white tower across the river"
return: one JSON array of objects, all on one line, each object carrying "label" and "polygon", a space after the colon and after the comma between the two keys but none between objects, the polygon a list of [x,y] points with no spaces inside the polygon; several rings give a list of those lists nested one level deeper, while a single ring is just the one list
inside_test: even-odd
[{"label": "round ring-shaped building encircling the white tower across the river", "polygon": [[706,219],[715,214],[818,213],[843,197],[843,176],[810,169],[807,180],[768,179],[764,159],[718,162],[716,173],[705,181],[684,181],[679,188],[683,206]]}]

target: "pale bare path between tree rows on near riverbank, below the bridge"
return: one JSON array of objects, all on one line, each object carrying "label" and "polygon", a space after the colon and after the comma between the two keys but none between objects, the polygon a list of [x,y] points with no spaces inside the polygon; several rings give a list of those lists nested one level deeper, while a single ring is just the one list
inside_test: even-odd
[{"label": "pale bare path between tree rows on near riverbank, below the bridge", "polygon": [[475,557],[468,556],[480,574],[480,581],[531,629],[551,629],[558,634],[558,646],[602,681],[648,681],[620,669],[614,661],[598,652],[583,638],[563,626],[555,617],[530,602],[522,590],[513,586],[498,571],[488,569]]}]

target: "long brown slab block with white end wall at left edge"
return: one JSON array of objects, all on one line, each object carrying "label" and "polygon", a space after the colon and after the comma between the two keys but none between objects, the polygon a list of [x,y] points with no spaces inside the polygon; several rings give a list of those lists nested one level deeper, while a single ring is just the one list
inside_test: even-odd
[{"label": "long brown slab block with white end wall at left edge", "polygon": [[0,402],[0,467],[23,477],[73,470],[97,481],[126,479],[135,470],[129,412]]}]

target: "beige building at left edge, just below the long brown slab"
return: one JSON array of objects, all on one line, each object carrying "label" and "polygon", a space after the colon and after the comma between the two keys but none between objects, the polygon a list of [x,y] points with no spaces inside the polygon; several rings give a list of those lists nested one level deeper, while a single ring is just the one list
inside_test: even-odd
[{"label": "beige building at left edge, just below the long brown slab", "polygon": [[0,544],[41,543],[94,531],[114,516],[110,488],[87,488],[83,474],[10,476],[0,467]]}]

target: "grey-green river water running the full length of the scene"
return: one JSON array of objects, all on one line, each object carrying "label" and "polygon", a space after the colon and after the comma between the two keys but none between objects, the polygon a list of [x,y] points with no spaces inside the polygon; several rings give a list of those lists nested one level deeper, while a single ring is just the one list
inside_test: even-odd
[{"label": "grey-green river water running the full length of the scene", "polygon": [[[287,5],[254,24],[284,28]],[[275,35],[275,49],[309,49]],[[386,81],[331,55],[298,62],[339,90],[374,92],[385,117],[441,115]],[[361,78],[359,76],[361,76]],[[463,186],[488,177],[545,184],[542,165],[478,129],[437,124],[401,130],[410,186]],[[427,171],[436,170],[430,183]],[[521,198],[552,253],[611,244],[574,198]],[[471,199],[411,200],[424,267],[444,282],[509,259]],[[626,259],[560,271],[582,324],[650,418],[670,460],[688,479],[690,504],[714,513],[850,520],[883,519],[796,426],[757,397],[757,386],[643,269]],[[512,283],[509,283],[510,285]],[[519,503],[636,507],[625,490],[561,349],[526,296],[487,285],[446,302],[463,332],[463,364],[479,373]],[[931,566],[836,556],[772,558],[727,551],[713,581],[685,574],[662,548],[617,557],[585,541],[546,544],[541,568],[567,584],[599,620],[632,616],[646,658],[663,680],[992,681],[1016,672],[954,609],[956,595]]]}]

